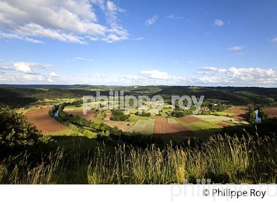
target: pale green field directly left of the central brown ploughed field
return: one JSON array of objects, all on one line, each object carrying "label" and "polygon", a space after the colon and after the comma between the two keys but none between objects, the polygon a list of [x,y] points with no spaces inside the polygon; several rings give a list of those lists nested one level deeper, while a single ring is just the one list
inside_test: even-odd
[{"label": "pale green field directly left of the central brown ploughed field", "polygon": [[143,135],[152,135],[154,133],[155,119],[138,120],[128,132],[140,132]]}]

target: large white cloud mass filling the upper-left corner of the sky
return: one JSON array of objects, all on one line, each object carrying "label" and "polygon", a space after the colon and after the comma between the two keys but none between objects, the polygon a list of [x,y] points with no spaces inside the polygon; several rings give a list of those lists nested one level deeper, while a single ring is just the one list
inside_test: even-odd
[{"label": "large white cloud mass filling the upper-left corner of the sky", "polygon": [[[106,24],[99,24],[97,7],[104,12]],[[118,22],[120,12],[125,10],[110,0],[0,0],[0,36],[37,44],[42,41],[29,37],[78,44],[93,38],[112,43],[128,39],[127,30]]]}]

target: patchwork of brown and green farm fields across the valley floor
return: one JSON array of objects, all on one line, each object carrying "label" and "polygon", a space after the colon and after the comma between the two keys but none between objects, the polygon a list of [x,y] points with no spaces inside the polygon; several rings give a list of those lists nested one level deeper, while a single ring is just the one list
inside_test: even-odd
[{"label": "patchwork of brown and green farm fields across the valley floor", "polygon": [[[221,128],[232,126],[238,123],[245,123],[241,121],[242,118],[247,118],[247,106],[237,106],[230,110],[219,112],[218,115],[187,115],[182,118],[157,116],[156,109],[150,109],[151,115],[139,116],[132,114],[126,121],[112,121],[110,120],[111,113],[109,110],[88,110],[87,114],[83,114],[82,107],[75,107],[74,105],[66,106],[64,111],[68,114],[79,115],[87,120],[94,122],[103,122],[111,127],[117,126],[122,131],[139,132],[142,135],[159,135],[165,139],[182,140],[186,137],[207,138],[215,132],[219,132]],[[72,131],[56,120],[48,116],[49,107],[38,108],[34,107],[26,112],[29,119],[34,122],[35,126],[44,133],[52,133],[53,135],[70,134]],[[150,111],[149,110],[149,111]],[[167,109],[163,109],[163,114]],[[272,114],[277,114],[277,108],[270,109]],[[228,116],[224,116],[228,114]]]}]

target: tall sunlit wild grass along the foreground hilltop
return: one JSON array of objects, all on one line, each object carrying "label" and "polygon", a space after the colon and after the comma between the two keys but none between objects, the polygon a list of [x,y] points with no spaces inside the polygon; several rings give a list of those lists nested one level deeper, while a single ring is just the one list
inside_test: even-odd
[{"label": "tall sunlit wild grass along the foreground hilltop", "polygon": [[0,162],[1,184],[277,183],[276,139],[214,136],[197,147],[118,147],[114,153],[58,149],[32,161],[27,153]]}]

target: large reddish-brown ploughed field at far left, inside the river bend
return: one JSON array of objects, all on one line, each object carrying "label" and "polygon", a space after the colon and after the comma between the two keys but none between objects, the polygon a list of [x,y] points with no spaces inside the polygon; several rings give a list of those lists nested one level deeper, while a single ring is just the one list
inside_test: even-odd
[{"label": "large reddish-brown ploughed field at far left, inside the river bend", "polygon": [[31,109],[25,113],[38,130],[51,133],[64,130],[65,127],[48,115],[50,108]]}]

